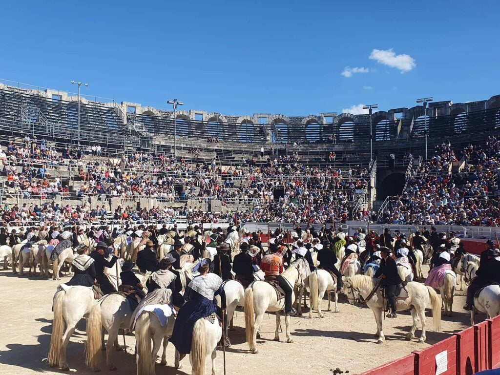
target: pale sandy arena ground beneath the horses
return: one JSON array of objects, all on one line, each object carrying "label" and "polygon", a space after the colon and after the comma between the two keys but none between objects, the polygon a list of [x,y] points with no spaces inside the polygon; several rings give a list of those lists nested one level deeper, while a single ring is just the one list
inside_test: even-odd
[{"label": "pale sandy arena ground beneath the horses", "polygon": [[[424,274],[427,274],[426,269]],[[51,299],[57,281],[34,277],[19,277],[10,270],[0,271],[0,295],[2,295],[0,324],[0,374],[29,375],[35,373],[61,373],[47,367],[45,358],[50,340],[52,313]],[[67,279],[67,278],[65,278]],[[442,332],[427,331],[427,342],[419,344],[416,340],[404,340],[404,334],[411,326],[409,313],[399,314],[397,319],[385,319],[384,334],[386,341],[377,345],[373,334],[376,330],[373,314],[368,308],[358,308],[347,303],[339,296],[340,312],[325,311],[324,318],[292,317],[291,330],[293,343],[286,343],[284,333],[280,342],[274,336],[274,315],[264,316],[261,339],[258,341],[258,354],[250,354],[244,337],[244,317],[238,312],[234,318],[235,330],[229,332],[232,346],[226,351],[227,374],[257,374],[262,371],[286,371],[290,375],[304,373],[327,374],[339,367],[350,374],[360,373],[387,361],[397,359],[412,350],[448,337],[468,326],[469,315],[462,310],[464,291],[457,290],[454,298],[453,317],[444,317]],[[326,308],[323,301],[323,308]],[[307,311],[307,310],[306,310]],[[304,314],[306,316],[306,314]],[[427,311],[430,321],[430,311]],[[476,322],[484,319],[476,317]],[[284,319],[282,319],[284,325]],[[68,346],[70,372],[92,373],[84,365],[85,324],[81,321]],[[416,336],[420,330],[417,329]],[[127,350],[115,353],[117,371],[108,371],[105,363],[101,373],[131,375],[135,373],[134,356],[130,354],[134,337],[125,336]],[[119,337],[123,344],[123,338]],[[173,346],[167,348],[167,365],[156,365],[157,374],[189,374],[189,360],[184,358],[183,368],[173,365]],[[222,372],[222,351],[217,351],[217,373]],[[206,373],[209,369],[207,368]]]}]

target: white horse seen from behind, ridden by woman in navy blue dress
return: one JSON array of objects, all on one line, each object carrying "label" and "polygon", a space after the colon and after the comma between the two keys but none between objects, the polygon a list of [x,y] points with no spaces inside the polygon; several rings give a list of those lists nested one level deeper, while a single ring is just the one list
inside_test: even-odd
[{"label": "white horse seen from behind, ridden by woman in navy blue dress", "polygon": [[[194,323],[192,330],[191,352],[189,353],[189,362],[191,363],[191,375],[204,375],[205,362],[208,357],[212,360],[212,375],[215,375],[215,358],[217,353],[215,348],[217,342],[222,337],[222,327],[215,319],[210,323],[205,318],[198,319]],[[185,354],[179,355],[175,350],[175,368],[181,368],[180,360]]]}]

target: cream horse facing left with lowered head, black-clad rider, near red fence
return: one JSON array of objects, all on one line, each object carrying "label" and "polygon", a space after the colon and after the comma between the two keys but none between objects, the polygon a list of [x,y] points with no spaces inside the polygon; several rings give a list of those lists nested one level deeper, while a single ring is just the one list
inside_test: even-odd
[{"label": "cream horse facing left with lowered head, black-clad rider, near red fence", "polygon": [[[381,344],[385,339],[382,331],[382,311],[385,301],[381,291],[379,289],[376,290],[377,282],[378,280],[365,275],[345,277],[343,289],[349,303],[353,304],[362,298],[363,303],[366,303],[371,308],[377,324],[375,336],[378,335],[377,343]],[[406,339],[411,340],[414,338],[416,324],[419,319],[422,325],[422,333],[418,341],[425,342],[425,307],[430,304],[434,331],[439,332],[441,325],[441,301],[433,288],[419,282],[409,281],[405,288],[408,296],[405,299],[397,298],[396,296],[396,309],[397,311],[401,311],[412,307],[410,312],[413,318],[413,325],[406,335]]]}]

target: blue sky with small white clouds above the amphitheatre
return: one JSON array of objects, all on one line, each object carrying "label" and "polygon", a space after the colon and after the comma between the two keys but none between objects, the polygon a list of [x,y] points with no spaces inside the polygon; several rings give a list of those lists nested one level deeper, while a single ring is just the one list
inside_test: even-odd
[{"label": "blue sky with small white clouds above the amphitheatre", "polygon": [[0,78],[226,114],[474,101],[500,93],[499,14],[491,0],[7,1]]}]

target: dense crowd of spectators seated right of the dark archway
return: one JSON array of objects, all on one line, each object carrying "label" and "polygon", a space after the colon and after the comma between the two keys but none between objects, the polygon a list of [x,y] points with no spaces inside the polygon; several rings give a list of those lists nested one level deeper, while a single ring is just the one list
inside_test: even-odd
[{"label": "dense crowd of spectators seated right of the dark archway", "polygon": [[432,158],[411,171],[402,195],[390,199],[380,222],[499,226],[499,160],[494,136],[457,152],[449,143],[437,145]]}]

